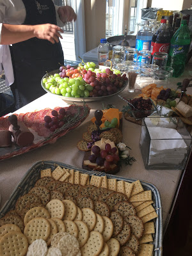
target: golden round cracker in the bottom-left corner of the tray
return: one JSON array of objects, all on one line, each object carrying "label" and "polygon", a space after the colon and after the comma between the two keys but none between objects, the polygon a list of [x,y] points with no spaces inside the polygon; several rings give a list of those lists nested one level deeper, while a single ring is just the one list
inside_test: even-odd
[{"label": "golden round cracker in the bottom-left corner of the tray", "polygon": [[8,232],[1,238],[0,255],[24,256],[28,251],[28,239],[17,231]]}]

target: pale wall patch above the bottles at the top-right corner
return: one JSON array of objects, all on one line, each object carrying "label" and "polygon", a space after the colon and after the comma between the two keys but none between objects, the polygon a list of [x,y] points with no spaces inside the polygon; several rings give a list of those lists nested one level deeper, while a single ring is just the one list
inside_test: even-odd
[{"label": "pale wall patch above the bottles at the top-right corner", "polygon": [[151,7],[163,8],[163,10],[184,10],[191,7],[191,0],[152,0]]}]

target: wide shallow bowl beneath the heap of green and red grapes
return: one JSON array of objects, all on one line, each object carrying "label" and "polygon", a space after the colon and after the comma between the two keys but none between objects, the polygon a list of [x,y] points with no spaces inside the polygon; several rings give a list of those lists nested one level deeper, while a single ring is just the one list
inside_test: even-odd
[{"label": "wide shallow bowl beneath the heap of green and red grapes", "polygon": [[[99,66],[99,68],[101,69],[101,68],[109,68],[109,67]],[[113,97],[113,96],[117,95],[118,93],[122,92],[126,88],[126,86],[128,84],[128,81],[124,81],[124,84],[123,84],[122,88],[120,88],[120,90],[118,90],[118,92],[113,93],[111,95],[107,95],[107,96],[102,96],[102,97],[79,97],[79,98],[76,98],[76,97],[65,97],[65,96],[62,96],[62,95],[57,95],[57,94],[51,93],[49,90],[47,90],[45,88],[44,83],[43,83],[43,79],[44,78],[46,78],[48,76],[51,76],[51,75],[54,75],[54,74],[57,74],[59,72],[60,72],[60,70],[57,69],[57,70],[53,70],[53,71],[45,74],[45,76],[43,76],[42,80],[41,80],[42,88],[45,90],[45,92],[53,95],[53,97],[60,97],[63,100],[67,100],[67,101],[71,101],[71,102],[82,102],[82,101],[84,101],[84,102],[93,102],[93,101],[98,101],[98,100],[105,100],[105,99]]]}]

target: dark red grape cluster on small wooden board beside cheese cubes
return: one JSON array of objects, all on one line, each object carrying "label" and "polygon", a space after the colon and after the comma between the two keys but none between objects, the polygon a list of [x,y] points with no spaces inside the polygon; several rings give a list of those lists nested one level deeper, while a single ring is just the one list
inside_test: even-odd
[{"label": "dark red grape cluster on small wooden board beside cheese cubes", "polygon": [[89,157],[90,162],[104,166],[106,170],[110,170],[110,165],[116,164],[120,160],[118,154],[116,154],[117,148],[111,148],[109,143],[106,144],[104,150],[100,150],[100,147],[96,145],[93,146],[92,152],[93,154]]}]

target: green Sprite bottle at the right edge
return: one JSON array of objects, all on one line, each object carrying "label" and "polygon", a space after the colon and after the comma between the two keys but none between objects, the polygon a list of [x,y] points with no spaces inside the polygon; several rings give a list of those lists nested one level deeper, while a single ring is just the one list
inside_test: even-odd
[{"label": "green Sprite bottle at the right edge", "polygon": [[173,77],[179,77],[184,72],[186,65],[191,44],[191,34],[187,22],[187,20],[181,21],[179,29],[177,29],[171,39],[167,66],[173,68]]}]

